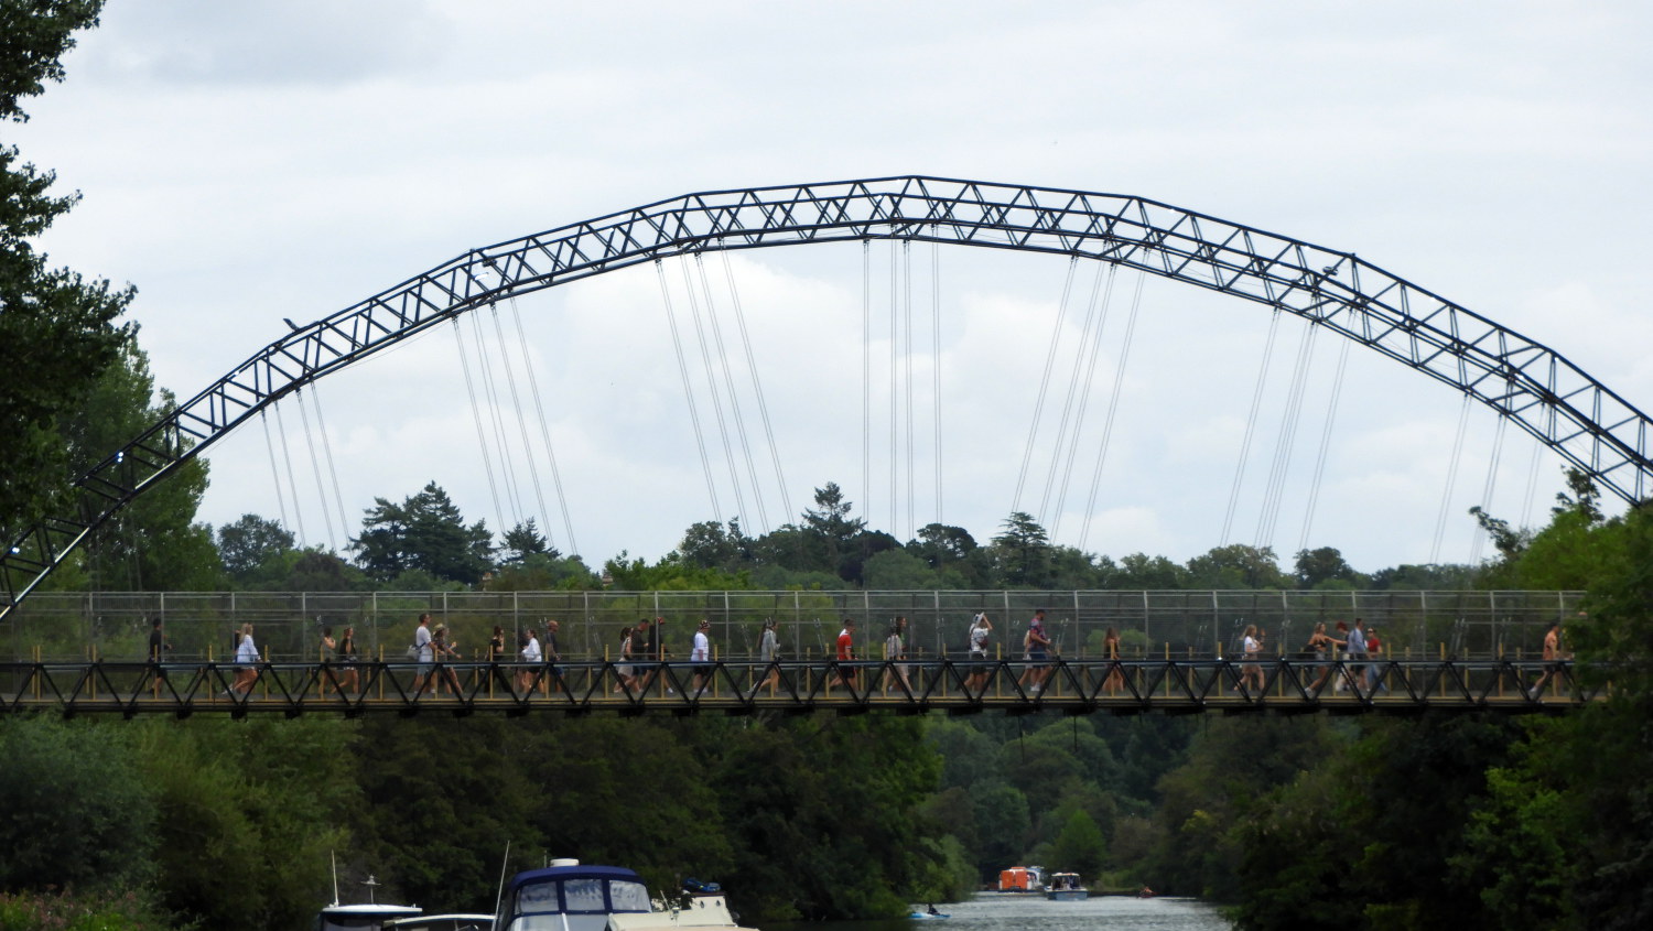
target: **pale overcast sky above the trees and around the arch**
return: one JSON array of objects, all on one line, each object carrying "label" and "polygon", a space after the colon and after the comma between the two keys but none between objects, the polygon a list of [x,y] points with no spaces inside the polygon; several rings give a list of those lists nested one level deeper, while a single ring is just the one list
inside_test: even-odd
[{"label": "pale overcast sky above the trees and around the arch", "polygon": [[[7,137],[84,193],[45,246],[55,263],[139,288],[131,319],[157,382],[180,397],[278,339],[283,317],[327,316],[474,246],[694,190],[931,174],[1142,195],[1355,251],[1648,410],[1650,20],[1636,2],[117,2],[68,56],[68,81],[30,101],[31,122]],[[909,293],[912,308],[894,382],[893,261],[911,266],[911,289],[894,294],[903,314]],[[1227,539],[1270,544],[1289,567],[1306,542],[1375,571],[1468,561],[1471,504],[1539,521],[1559,488],[1559,460],[1536,460],[1514,428],[1494,460],[1496,420],[1479,407],[1453,475],[1460,395],[1355,347],[1308,521],[1341,351],[1322,336],[1279,504],[1266,508],[1303,332],[1283,319],[1235,496],[1270,313],[1165,279],[1142,286],[1104,446],[1137,279],[1117,276],[1084,379],[1074,362],[1098,271],[1086,265],[1028,455],[1068,263],[927,245],[893,256],[878,243],[869,266],[866,281],[860,245],[744,251],[727,271],[717,255],[689,263],[691,281],[704,271],[714,284],[752,470],[727,400],[724,451],[684,268],[663,266],[717,511],[661,281],[641,266],[501,306],[503,347],[494,317],[479,321],[489,365],[473,356],[471,377],[493,377],[503,402],[493,481],[443,327],[316,385],[331,470],[311,453],[322,443],[309,402],[307,413],[281,405],[273,443],[256,425],[222,440],[200,516],[284,518],[306,542],[342,547],[375,496],[436,481],[494,529],[541,514],[544,498],[537,523],[564,551],[572,528],[597,566],[622,549],[663,556],[694,521],[774,528],[836,481],[856,514],[901,539],[941,518],[985,541],[1020,508],[1058,542],[1114,557],[1185,561]],[[524,432],[541,445],[541,418],[516,317],[567,521],[544,451],[521,451]],[[474,352],[469,319],[463,334]],[[1058,432],[1063,407],[1076,442],[1071,425]],[[273,475],[273,456],[291,461],[291,480],[284,463]]]}]

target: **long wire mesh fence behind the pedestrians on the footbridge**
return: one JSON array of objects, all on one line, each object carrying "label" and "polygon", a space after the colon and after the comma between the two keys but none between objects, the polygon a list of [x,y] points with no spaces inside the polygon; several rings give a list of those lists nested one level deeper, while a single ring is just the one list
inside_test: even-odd
[{"label": "long wire mesh fence behind the pedestrians on the footbridge", "polygon": [[0,630],[12,661],[145,658],[152,623],[162,622],[170,658],[225,660],[235,632],[251,623],[269,661],[322,658],[322,635],[354,628],[364,658],[397,658],[413,642],[420,614],[445,623],[461,656],[486,658],[499,628],[507,653],[527,630],[544,638],[560,625],[567,660],[600,661],[620,653],[625,628],[660,625],[668,656],[688,656],[701,618],[711,622],[717,658],[757,655],[762,625],[777,623],[787,658],[826,656],[846,618],[856,622],[856,658],[883,658],[904,617],[912,658],[964,656],[975,614],[993,625],[988,650],[1020,658],[1028,618],[1043,609],[1046,633],[1063,658],[1103,655],[1109,628],[1124,656],[1217,658],[1238,655],[1246,625],[1265,652],[1291,655],[1317,623],[1364,618],[1392,658],[1534,656],[1551,623],[1579,610],[1584,592],[1531,590],[712,590],[712,592],[41,592],[18,605]]}]

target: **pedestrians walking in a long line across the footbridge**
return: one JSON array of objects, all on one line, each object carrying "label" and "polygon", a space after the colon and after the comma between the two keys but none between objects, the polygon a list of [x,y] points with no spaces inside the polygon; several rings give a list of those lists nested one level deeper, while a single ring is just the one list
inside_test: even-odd
[{"label": "pedestrians walking in a long line across the footbridge", "polygon": [[[1058,627],[1066,630],[1066,623],[1063,620]],[[734,627],[732,633],[739,635],[741,630]],[[507,645],[506,628],[494,625],[486,648],[466,660],[456,632],[425,612],[413,623],[407,666],[392,660],[392,671],[410,668],[415,698],[441,695],[488,698],[501,693],[516,698],[572,696],[559,633],[559,620],[542,618],[539,623],[522,625],[512,648]],[[878,635],[868,638],[871,645],[861,643],[858,637],[858,620],[845,617],[836,638],[830,645],[822,640],[818,658],[812,658],[807,650],[803,656],[785,656],[780,623],[770,617],[764,618],[755,643],[752,640],[746,643],[749,652],[727,655],[714,643],[711,618],[701,617],[693,627],[684,655],[673,653],[668,647],[665,617],[645,617],[635,625],[622,627],[612,652],[603,648],[600,656],[580,661],[577,671],[584,676],[579,680],[584,683],[580,688],[600,680],[597,688],[602,691],[633,698],[651,695],[651,690],[661,695],[676,695],[681,690],[688,696],[699,698],[721,688],[729,688],[731,695],[747,696],[777,695],[780,690],[805,695],[820,688],[828,696],[833,690],[848,690],[853,695],[879,690],[911,698],[936,688],[937,676],[946,680],[944,688],[970,696],[984,696],[995,688],[1003,695],[1035,698],[1051,688],[1050,678],[1056,668],[1078,670],[1084,678],[1073,681],[1081,683],[1081,688],[1098,688],[1108,696],[1132,688],[1129,675],[1134,675],[1131,673],[1134,665],[1126,661],[1117,628],[1109,627],[1103,633],[1099,656],[1093,640],[1091,656],[1065,665],[1060,637],[1051,633],[1043,609],[1035,610],[1025,627],[1013,625],[1008,643],[1003,645],[993,642],[995,625],[985,610],[970,617],[954,643],[947,643],[946,632],[939,632],[941,648],[931,656],[947,660],[946,663],[926,660],[926,652],[911,640],[906,615],[893,617],[881,640]],[[261,671],[269,666],[255,642],[251,623],[243,623],[235,632],[233,645],[233,678],[228,680],[223,695],[245,699],[251,696]],[[798,643],[793,642],[793,647]],[[155,620],[149,635],[147,660],[152,665],[150,691],[157,698],[167,686],[170,650],[172,643],[160,620]],[[876,658],[868,658],[868,652]],[[362,695],[367,683],[362,676],[362,652],[354,627],[344,627],[337,638],[332,627],[324,627],[319,653],[322,696]],[[1303,647],[1291,655],[1293,663],[1279,666],[1281,671],[1274,673],[1274,678],[1268,678],[1266,673],[1268,653],[1268,632],[1255,623],[1245,625],[1230,645],[1228,665],[1223,666],[1223,675],[1228,678],[1223,685],[1231,685],[1231,691],[1243,696],[1261,696],[1271,688],[1279,688],[1286,695],[1298,688],[1306,698],[1317,698],[1331,690],[1334,695],[1354,695],[1364,699],[1389,691],[1387,670],[1392,666],[1384,638],[1375,625],[1360,617],[1352,623],[1336,620],[1331,632],[1324,622],[1316,623]],[[1542,673],[1531,686],[1524,685],[1521,693],[1537,701],[1547,686],[1560,680],[1569,658],[1562,650],[1560,623],[1555,622],[1544,635]],[[916,670],[926,676],[922,681],[914,678]],[[1281,678],[1286,670],[1294,678]],[[375,676],[382,675],[379,668],[372,671]],[[807,678],[800,680],[800,673]],[[1003,678],[998,673],[1005,673]],[[1071,675],[1074,673],[1065,673]],[[1094,685],[1098,681],[1099,686]]]}]

